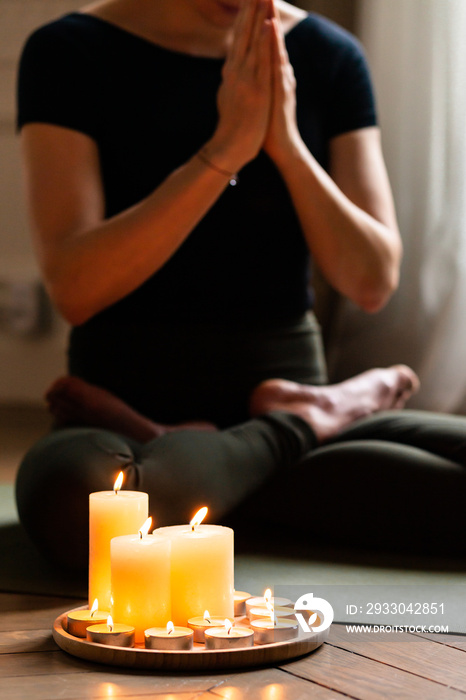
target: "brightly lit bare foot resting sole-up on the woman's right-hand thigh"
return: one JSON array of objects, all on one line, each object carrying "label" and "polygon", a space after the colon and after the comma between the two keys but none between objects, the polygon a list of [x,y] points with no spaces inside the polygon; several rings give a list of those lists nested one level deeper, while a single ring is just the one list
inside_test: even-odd
[{"label": "brightly lit bare foot resting sole-up on the woman's right-hand thigh", "polygon": [[403,408],[419,389],[419,379],[409,367],[393,365],[371,369],[340,384],[310,386],[284,379],[259,384],[250,399],[250,413],[289,411],[313,428],[319,442],[364,416]]}]

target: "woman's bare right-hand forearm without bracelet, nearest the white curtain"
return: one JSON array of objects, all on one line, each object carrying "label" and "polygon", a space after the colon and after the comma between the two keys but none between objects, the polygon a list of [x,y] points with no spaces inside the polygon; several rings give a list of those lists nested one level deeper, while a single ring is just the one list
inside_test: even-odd
[{"label": "woman's bare right-hand forearm without bracelet, nearest the white curtain", "polygon": [[401,242],[394,215],[382,222],[352,202],[301,140],[277,167],[327,280],[365,311],[380,309],[398,284]]}]

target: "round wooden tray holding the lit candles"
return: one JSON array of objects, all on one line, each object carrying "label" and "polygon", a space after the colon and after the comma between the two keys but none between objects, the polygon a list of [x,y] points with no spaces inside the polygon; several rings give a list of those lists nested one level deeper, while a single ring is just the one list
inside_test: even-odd
[{"label": "round wooden tray holding the lit candles", "polygon": [[[75,608],[81,609],[83,608]],[[320,647],[329,633],[328,629],[314,634],[304,634],[300,631],[298,637],[286,642],[261,644],[244,649],[205,649],[203,644],[194,644],[190,651],[159,651],[139,646],[106,646],[73,637],[65,629],[69,612],[71,611],[59,615],[52,629],[53,638],[63,651],[100,664],[160,671],[207,671],[289,661]],[[238,622],[242,620],[243,618],[237,618]]]}]

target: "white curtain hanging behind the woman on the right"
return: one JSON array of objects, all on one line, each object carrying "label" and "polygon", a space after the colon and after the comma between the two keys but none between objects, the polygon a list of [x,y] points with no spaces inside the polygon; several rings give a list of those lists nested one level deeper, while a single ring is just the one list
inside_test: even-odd
[{"label": "white curtain hanging behind the woman on the right", "polygon": [[331,378],[404,362],[410,406],[466,412],[466,0],[360,2],[405,252],[383,311],[340,305]]}]

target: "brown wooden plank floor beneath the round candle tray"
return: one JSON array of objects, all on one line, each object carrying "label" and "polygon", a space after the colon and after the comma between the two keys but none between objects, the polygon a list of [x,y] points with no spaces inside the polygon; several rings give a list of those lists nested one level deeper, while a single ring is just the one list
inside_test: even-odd
[{"label": "brown wooden plank floor beneath the round candle tray", "polygon": [[276,668],[209,675],[164,675],[81,661],[54,643],[51,626],[79,601],[0,593],[2,700],[466,700],[466,637],[349,634]]}]

